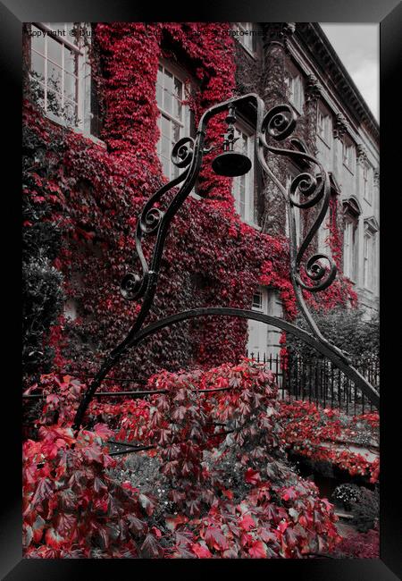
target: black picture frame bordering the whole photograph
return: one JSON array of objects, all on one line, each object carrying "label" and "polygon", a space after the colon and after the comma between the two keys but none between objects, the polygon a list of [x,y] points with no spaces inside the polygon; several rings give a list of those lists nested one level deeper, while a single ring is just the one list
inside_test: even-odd
[{"label": "black picture frame bordering the whole photograph", "polygon": [[[98,0],[8,0],[0,3],[0,63],[3,80],[2,138],[4,154],[2,161],[4,177],[9,181],[4,190],[3,223],[9,230],[3,245],[3,273],[9,295],[4,299],[4,311],[13,314],[13,325],[5,329],[7,338],[5,353],[12,354],[14,364],[7,355],[4,362],[3,397],[3,477],[5,490],[1,496],[0,526],[0,573],[7,581],[29,579],[50,581],[52,579],[81,579],[99,575],[122,576],[124,572],[138,575],[138,564],[149,574],[163,576],[177,573],[215,575],[230,573],[264,575],[293,575],[297,579],[314,581],[393,581],[402,578],[402,535],[401,535],[401,488],[397,477],[400,462],[399,417],[395,405],[398,386],[398,341],[390,341],[387,326],[395,325],[398,307],[398,292],[395,283],[388,281],[385,266],[390,248],[398,251],[398,242],[392,240],[398,233],[398,213],[393,210],[399,192],[397,156],[398,147],[393,146],[392,136],[397,133],[400,78],[402,6],[398,0],[337,0],[337,2],[297,0],[261,2],[249,0],[240,3],[225,0],[219,5],[206,2],[198,4],[165,3],[156,9],[154,4],[134,3],[125,0],[105,2]],[[21,282],[20,268],[20,197],[21,191],[21,24],[26,21],[321,21],[321,22],[379,22],[381,35],[381,558],[378,560],[24,560],[21,549],[21,390],[20,353],[21,340],[18,336],[21,306],[14,309],[19,297]],[[4,122],[9,129],[4,129]],[[3,181],[4,185],[4,181]],[[387,198],[386,198],[387,197]],[[385,215],[385,217],[384,217]],[[393,222],[395,221],[395,222]],[[386,224],[384,226],[384,224]],[[5,229],[2,229],[5,233]],[[12,232],[10,234],[10,232]],[[15,250],[12,252],[11,249]],[[395,259],[394,259],[395,264]],[[398,269],[398,263],[396,264]],[[387,295],[389,295],[387,297]],[[17,300],[18,303],[18,300]],[[15,339],[9,341],[15,328]],[[3,349],[4,350],[4,349]],[[5,372],[9,377],[5,379]],[[394,372],[397,378],[393,378]],[[388,390],[387,390],[388,388]],[[5,427],[6,417],[11,418]],[[128,568],[128,569],[127,569]],[[124,569],[124,571],[123,571]],[[142,571],[141,571],[142,573]]]}]

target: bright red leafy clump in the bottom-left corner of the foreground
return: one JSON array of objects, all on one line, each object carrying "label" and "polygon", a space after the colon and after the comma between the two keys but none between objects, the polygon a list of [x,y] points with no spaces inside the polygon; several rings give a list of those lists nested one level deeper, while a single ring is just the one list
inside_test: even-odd
[{"label": "bright red leafy clump in the bottom-left corner of the foreground", "polygon": [[23,545],[26,557],[157,557],[153,502],[108,475],[115,460],[94,432],[58,425],[39,428],[23,445]]}]

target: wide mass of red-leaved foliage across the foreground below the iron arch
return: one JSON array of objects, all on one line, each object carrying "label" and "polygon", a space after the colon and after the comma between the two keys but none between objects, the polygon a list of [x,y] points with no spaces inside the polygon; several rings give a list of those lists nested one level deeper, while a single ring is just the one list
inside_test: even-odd
[{"label": "wide mass of red-leaved foliage across the foreground below the iron arch", "polygon": [[[58,425],[44,425],[54,414],[46,396],[38,442],[24,443],[26,556],[300,558],[333,550],[332,505],[296,475],[281,447],[270,372],[245,359],[207,372],[164,372],[148,387],[163,391],[149,404],[95,402],[86,417],[91,431],[76,436],[76,402],[60,400]],[[118,434],[97,422],[115,417],[117,426],[127,412]],[[115,480],[105,447],[112,434],[155,445],[172,514]]]}]

